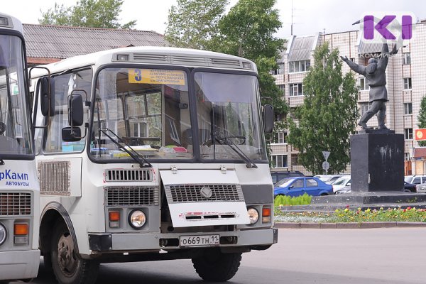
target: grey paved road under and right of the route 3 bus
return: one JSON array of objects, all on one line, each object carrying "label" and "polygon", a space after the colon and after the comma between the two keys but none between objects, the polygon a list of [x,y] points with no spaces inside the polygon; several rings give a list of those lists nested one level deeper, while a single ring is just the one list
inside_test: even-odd
[{"label": "grey paved road under and right of the route 3 bus", "polygon": [[[55,283],[43,263],[33,283]],[[183,260],[105,264],[97,283],[204,282]],[[423,284],[426,229],[280,229],[271,249],[244,254],[229,283]]]}]

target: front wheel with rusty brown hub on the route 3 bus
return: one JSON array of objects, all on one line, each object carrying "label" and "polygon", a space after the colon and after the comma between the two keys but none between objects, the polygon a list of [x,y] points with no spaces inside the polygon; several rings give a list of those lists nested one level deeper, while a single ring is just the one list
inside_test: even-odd
[{"label": "front wheel with rusty brown hub on the route 3 bus", "polygon": [[[58,253],[59,251],[59,253]],[[60,284],[92,284],[96,282],[99,263],[82,259],[64,223],[57,224],[50,248],[53,273]]]}]

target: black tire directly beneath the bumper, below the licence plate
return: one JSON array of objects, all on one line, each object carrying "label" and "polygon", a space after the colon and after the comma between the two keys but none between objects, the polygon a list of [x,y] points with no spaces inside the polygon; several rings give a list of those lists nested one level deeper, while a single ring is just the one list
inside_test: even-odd
[{"label": "black tire directly beneath the bumper, below the licence plate", "polygon": [[234,277],[241,263],[241,253],[222,253],[219,249],[204,251],[192,258],[195,271],[208,282],[224,282]]}]

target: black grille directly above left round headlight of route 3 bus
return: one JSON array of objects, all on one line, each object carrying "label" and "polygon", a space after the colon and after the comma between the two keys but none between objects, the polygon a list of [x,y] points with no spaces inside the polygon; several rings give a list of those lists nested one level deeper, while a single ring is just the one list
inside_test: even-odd
[{"label": "black grille directly above left round headlight of route 3 bus", "polygon": [[105,187],[105,199],[107,207],[158,205],[158,187]]}]

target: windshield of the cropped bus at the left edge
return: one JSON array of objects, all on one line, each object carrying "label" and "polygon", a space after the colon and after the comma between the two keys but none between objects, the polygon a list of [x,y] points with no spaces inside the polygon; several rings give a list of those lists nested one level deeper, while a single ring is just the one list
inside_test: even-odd
[{"label": "windshield of the cropped bus at the left edge", "polygon": [[0,159],[33,153],[21,38],[0,35]]}]

